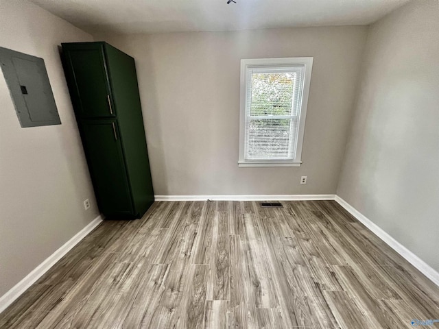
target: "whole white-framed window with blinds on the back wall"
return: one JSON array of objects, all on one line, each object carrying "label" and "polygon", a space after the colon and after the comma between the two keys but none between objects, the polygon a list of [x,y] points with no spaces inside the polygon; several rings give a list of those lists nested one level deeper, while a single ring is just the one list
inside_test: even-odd
[{"label": "whole white-framed window with blinds on the back wall", "polygon": [[299,167],[312,57],[241,60],[239,167]]}]

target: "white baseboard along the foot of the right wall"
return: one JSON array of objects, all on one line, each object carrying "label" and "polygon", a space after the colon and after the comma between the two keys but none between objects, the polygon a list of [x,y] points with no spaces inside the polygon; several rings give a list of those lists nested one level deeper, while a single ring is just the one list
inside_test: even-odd
[{"label": "white baseboard along the foot of the right wall", "polygon": [[392,249],[394,249],[395,252],[403,256],[410,264],[416,267],[416,269],[418,269],[427,278],[429,278],[431,281],[439,286],[439,273],[435,269],[425,263],[425,261],[420,259],[418,256],[413,254],[413,252],[411,252],[409,249],[401,245],[401,243],[392,238],[390,234],[385,232],[382,228],[377,226],[377,224],[373,223],[370,219],[361,214],[361,212],[359,212],[353,206],[344,201],[344,199],[336,195],[335,201],[338,202],[344,209],[348,210],[348,212],[350,212],[353,217],[363,223],[366,228],[375,233],[379,237],[379,239],[387,243],[390,247],[392,247]]}]

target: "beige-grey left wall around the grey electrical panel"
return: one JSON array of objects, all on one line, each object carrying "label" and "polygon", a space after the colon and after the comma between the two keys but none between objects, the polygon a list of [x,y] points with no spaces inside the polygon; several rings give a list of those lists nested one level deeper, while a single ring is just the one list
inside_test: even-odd
[{"label": "beige-grey left wall around the grey electrical panel", "polygon": [[0,297],[98,215],[57,49],[80,40],[93,38],[27,1],[0,1],[0,47],[44,58],[62,121],[21,128],[0,71]]}]

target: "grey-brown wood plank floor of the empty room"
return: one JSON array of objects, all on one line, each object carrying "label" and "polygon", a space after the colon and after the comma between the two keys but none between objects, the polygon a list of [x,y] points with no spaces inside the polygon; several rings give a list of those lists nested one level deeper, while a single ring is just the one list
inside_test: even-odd
[{"label": "grey-brown wood plank floor of the empty room", "polygon": [[[104,221],[0,328],[412,328],[439,288],[333,201],[155,202]],[[435,324],[439,326],[439,324]]]}]

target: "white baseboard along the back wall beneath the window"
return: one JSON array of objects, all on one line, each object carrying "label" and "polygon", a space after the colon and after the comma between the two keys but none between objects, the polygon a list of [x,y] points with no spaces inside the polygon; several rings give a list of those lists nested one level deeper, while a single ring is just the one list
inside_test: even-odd
[{"label": "white baseboard along the back wall beneath the window", "polygon": [[155,195],[156,201],[299,201],[333,200],[334,194],[297,194],[297,195]]}]

